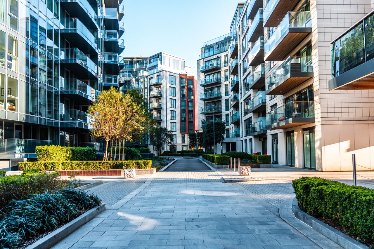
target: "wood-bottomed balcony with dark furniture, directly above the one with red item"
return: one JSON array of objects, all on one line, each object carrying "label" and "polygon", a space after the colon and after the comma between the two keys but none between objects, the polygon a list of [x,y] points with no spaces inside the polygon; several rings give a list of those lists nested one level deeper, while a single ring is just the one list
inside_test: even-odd
[{"label": "wood-bottomed balcony with dark furniture, directly above the one with red item", "polygon": [[290,56],[266,78],[266,95],[283,95],[312,77],[312,56]]}]

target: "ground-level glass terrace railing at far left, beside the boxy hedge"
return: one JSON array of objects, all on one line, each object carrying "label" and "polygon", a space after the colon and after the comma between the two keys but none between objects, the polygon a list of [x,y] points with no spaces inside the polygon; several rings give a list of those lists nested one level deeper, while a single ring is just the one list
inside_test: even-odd
[{"label": "ground-level glass terrace railing at far left, beside the boxy hedge", "polygon": [[36,146],[58,145],[58,141],[34,139],[0,139],[0,154],[34,154]]}]

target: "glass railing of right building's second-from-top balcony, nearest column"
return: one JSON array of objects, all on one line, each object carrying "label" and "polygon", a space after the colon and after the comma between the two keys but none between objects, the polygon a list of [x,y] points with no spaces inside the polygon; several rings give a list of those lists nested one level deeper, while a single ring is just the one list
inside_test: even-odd
[{"label": "glass railing of right building's second-from-top balcony, nearest column", "polygon": [[[266,6],[267,7],[267,6]],[[281,23],[275,29],[274,33],[264,44],[266,54],[273,50],[279,41],[289,33],[289,28],[311,28],[310,11],[288,12]]]}]

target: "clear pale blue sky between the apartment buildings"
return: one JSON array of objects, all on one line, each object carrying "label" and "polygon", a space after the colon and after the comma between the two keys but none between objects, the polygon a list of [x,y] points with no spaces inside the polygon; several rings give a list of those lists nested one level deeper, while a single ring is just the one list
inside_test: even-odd
[{"label": "clear pale blue sky between the apartment buildings", "polygon": [[[158,52],[184,58],[196,74],[203,42],[230,33],[237,0],[123,0],[122,56]],[[244,1],[243,1],[244,2]]]}]

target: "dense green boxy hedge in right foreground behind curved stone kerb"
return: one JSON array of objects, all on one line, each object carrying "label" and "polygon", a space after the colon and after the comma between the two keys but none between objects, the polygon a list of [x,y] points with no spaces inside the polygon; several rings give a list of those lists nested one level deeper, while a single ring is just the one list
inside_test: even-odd
[{"label": "dense green boxy hedge in right foreground behind curved stone kerb", "polygon": [[316,218],[332,219],[352,237],[374,244],[374,190],[322,178],[292,181],[298,204]]}]

